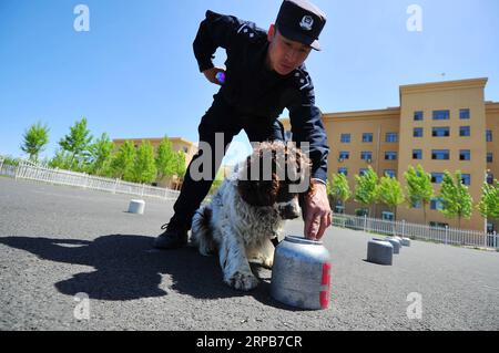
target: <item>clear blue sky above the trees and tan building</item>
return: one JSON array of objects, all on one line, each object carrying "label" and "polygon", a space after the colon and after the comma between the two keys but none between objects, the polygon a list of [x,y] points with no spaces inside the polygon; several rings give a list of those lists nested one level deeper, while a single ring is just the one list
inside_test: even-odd
[{"label": "clear blue sky above the trees and tan building", "polygon": [[[323,112],[398,106],[401,84],[489,77],[499,101],[497,0],[316,0],[328,14],[307,68]],[[77,4],[90,31],[77,32]],[[24,129],[50,127],[58,142],[85,116],[94,136],[182,136],[217,87],[198,73],[192,42],[207,9],[267,29],[281,0],[0,0],[0,154],[22,156]],[[410,32],[407,8],[422,10]],[[216,64],[224,53],[217,52]],[[442,75],[445,73],[445,75]],[[285,112],[286,113],[286,112]],[[235,141],[247,141],[244,133]]]}]

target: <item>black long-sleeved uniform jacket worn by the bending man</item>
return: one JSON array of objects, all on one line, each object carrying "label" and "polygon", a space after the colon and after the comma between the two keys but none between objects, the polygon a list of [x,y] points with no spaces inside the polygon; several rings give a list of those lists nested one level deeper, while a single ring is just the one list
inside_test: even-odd
[{"label": "black long-sleeved uniform jacket worn by the bending man", "polygon": [[212,11],[206,11],[193,46],[201,72],[214,66],[217,48],[226,50],[221,94],[242,114],[275,120],[288,108],[293,141],[298,146],[309,143],[312,177],[326,181],[329,147],[305,64],[286,76],[267,70],[267,32],[253,22]]}]

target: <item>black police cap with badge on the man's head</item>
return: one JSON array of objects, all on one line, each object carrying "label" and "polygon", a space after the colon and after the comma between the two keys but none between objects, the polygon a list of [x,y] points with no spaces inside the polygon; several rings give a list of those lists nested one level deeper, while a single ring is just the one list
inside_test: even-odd
[{"label": "black police cap with badge on the man's head", "polygon": [[309,1],[283,1],[275,23],[285,38],[320,50],[318,37],[326,24],[326,14]]}]

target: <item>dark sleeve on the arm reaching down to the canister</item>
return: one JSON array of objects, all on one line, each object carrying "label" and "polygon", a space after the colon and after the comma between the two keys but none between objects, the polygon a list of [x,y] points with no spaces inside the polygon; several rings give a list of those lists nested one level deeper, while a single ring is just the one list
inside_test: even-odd
[{"label": "dark sleeve on the arm reaching down to the canister", "polygon": [[[312,177],[327,181],[327,144],[326,129],[323,124],[320,110],[315,106],[315,93],[312,80],[308,75],[298,89],[294,101],[287,107],[292,125],[293,141],[298,147],[302,143],[309,144],[309,157],[312,159]],[[305,149],[306,150],[306,149]]]}]

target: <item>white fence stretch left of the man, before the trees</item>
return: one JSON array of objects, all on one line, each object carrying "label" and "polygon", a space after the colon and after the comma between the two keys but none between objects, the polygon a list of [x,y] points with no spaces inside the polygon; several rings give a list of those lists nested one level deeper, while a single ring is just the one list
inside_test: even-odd
[{"label": "white fence stretch left of the man, before the trees", "polygon": [[171,200],[176,199],[180,194],[179,191],[169,188],[126,183],[120,179],[96,177],[84,173],[75,173],[57,168],[53,169],[47,166],[39,166],[27,160],[22,160],[16,166],[7,164],[2,158],[0,158],[0,175],[13,177],[16,179],[29,179],[54,185],[67,185],[86,189],[110,191],[113,194],[150,196]]}]

